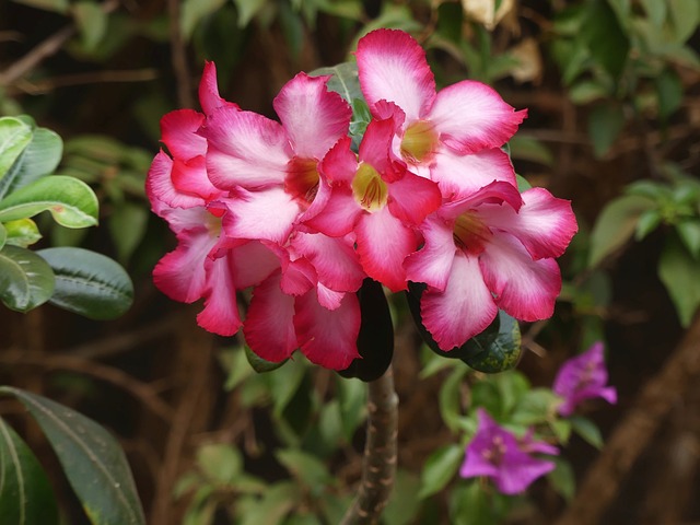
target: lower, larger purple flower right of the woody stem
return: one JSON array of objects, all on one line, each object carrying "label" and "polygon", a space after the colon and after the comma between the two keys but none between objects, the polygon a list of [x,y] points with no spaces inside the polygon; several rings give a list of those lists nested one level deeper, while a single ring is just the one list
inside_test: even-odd
[{"label": "lower, larger purple flower right of the woody stem", "polygon": [[499,427],[486,410],[477,410],[477,433],[467,446],[467,454],[459,469],[463,478],[487,476],[504,494],[523,492],[535,479],[555,468],[553,462],[533,457],[541,452],[558,454],[548,443],[534,441],[532,432],[518,440],[508,430]]}]

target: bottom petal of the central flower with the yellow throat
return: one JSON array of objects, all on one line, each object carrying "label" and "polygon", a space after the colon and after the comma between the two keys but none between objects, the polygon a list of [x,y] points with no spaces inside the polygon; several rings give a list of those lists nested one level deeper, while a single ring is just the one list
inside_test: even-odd
[{"label": "bottom petal of the central flower with the yellow throat", "polygon": [[354,231],[360,262],[368,276],[393,292],[406,290],[404,260],[418,247],[413,230],[384,207],[373,213],[363,213]]}]

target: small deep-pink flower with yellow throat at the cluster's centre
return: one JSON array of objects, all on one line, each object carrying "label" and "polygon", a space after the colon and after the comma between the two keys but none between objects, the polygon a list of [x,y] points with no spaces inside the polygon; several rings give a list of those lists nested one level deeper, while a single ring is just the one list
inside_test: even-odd
[{"label": "small deep-pink flower with yellow throat at the cluster's centre", "polygon": [[412,226],[440,206],[441,196],[434,183],[390,159],[394,129],[392,118],[370,122],[359,155],[349,137],[338,141],[319,166],[330,187],[322,186],[305,224],[331,236],[354,232],[364,271],[397,292],[407,288],[404,259],[418,248]]}]

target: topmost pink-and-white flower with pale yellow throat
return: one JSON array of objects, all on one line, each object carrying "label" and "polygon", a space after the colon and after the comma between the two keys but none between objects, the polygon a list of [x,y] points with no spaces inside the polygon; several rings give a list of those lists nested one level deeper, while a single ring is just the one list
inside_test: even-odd
[{"label": "topmost pink-and-white flower with pale yellow throat", "polygon": [[383,101],[402,117],[394,152],[418,175],[432,178],[444,196],[469,192],[493,180],[515,184],[500,147],[527,112],[514,112],[488,85],[465,80],[435,91],[425,51],[407,33],[377,30],[358,44],[362,93],[375,117]]}]

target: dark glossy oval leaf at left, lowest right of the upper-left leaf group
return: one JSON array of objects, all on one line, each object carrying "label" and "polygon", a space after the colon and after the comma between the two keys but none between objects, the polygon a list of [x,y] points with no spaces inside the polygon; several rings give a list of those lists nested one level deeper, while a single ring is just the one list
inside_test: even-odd
[{"label": "dark glossy oval leaf at left, lowest right of the upper-left leaf group", "polygon": [[90,319],[113,319],[133,302],[133,284],[117,262],[83,248],[60,247],[37,252],[56,275],[50,302]]}]

